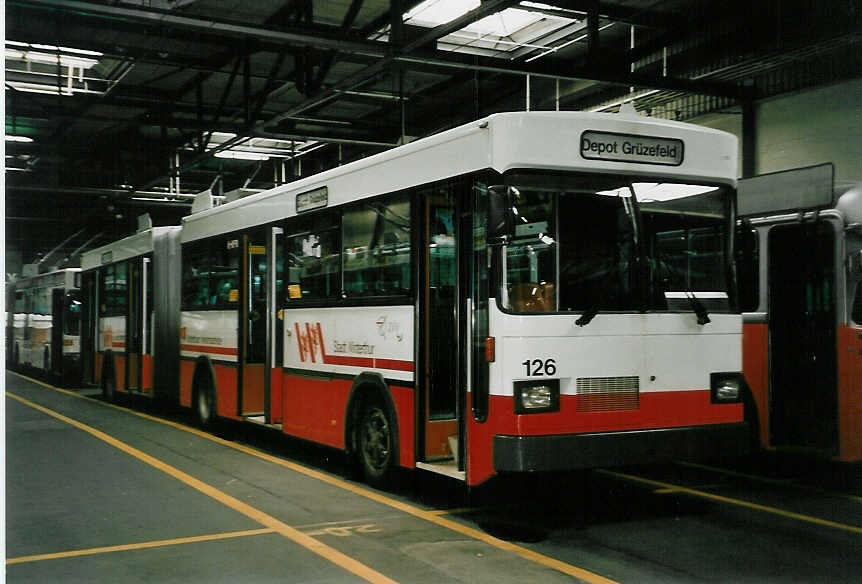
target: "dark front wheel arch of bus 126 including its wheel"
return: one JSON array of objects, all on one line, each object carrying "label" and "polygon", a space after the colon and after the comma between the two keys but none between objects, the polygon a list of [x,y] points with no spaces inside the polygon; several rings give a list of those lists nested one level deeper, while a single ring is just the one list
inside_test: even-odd
[{"label": "dark front wheel arch of bus 126 including its wheel", "polygon": [[385,486],[398,466],[398,416],[392,393],[379,373],[362,373],[350,388],[345,447],[365,481]]}]

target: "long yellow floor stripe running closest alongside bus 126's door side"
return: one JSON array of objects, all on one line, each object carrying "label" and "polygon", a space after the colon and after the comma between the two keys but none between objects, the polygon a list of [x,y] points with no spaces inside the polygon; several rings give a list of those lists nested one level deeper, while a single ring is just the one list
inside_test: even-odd
[{"label": "long yellow floor stripe running closest alongside bus 126's door side", "polygon": [[40,385],[43,385],[49,389],[54,390],[54,391],[66,393],[68,395],[78,397],[81,399],[87,399],[87,400],[93,401],[93,402],[98,403],[98,404],[107,405],[109,407],[119,409],[119,410],[122,410],[124,412],[128,412],[130,414],[133,414],[135,416],[139,416],[141,418],[146,418],[148,420],[152,420],[152,421],[158,422],[160,424],[165,424],[165,425],[171,426],[173,428],[177,428],[177,429],[182,430],[184,432],[189,432],[189,433],[194,434],[196,436],[200,436],[201,438],[205,438],[205,439],[210,440],[212,442],[216,442],[218,444],[221,444],[222,446],[226,446],[228,448],[233,448],[234,450],[239,450],[240,452],[245,452],[246,454],[250,454],[251,456],[255,456],[257,458],[266,460],[266,461],[271,462],[273,464],[277,464],[283,468],[288,468],[292,471],[304,474],[305,476],[317,479],[321,482],[333,485],[333,486],[338,487],[340,489],[344,489],[345,491],[349,491],[355,495],[359,495],[360,497],[365,497],[366,499],[376,501],[377,503],[380,503],[382,505],[386,505],[386,506],[391,507],[393,509],[397,509],[399,511],[407,513],[409,515],[413,515],[414,517],[418,517],[420,519],[428,521],[429,523],[434,523],[435,525],[439,525],[440,527],[444,527],[450,531],[454,531],[454,532],[460,533],[461,535],[464,535],[466,537],[470,537],[470,538],[476,539],[478,541],[484,542],[484,543],[486,543],[490,546],[493,546],[497,549],[501,549],[503,551],[515,554],[515,555],[517,555],[517,556],[519,556],[525,560],[535,562],[535,563],[542,565],[542,566],[545,566],[547,568],[551,568],[551,569],[557,570],[559,572],[562,572],[563,574],[572,576],[574,578],[578,578],[579,580],[587,582],[588,584],[617,584],[616,581],[610,580],[610,579],[605,578],[604,576],[600,576],[598,574],[594,574],[593,572],[590,572],[589,570],[585,570],[583,568],[573,566],[572,564],[568,564],[566,562],[562,562],[560,560],[554,559],[554,558],[546,556],[544,554],[534,552],[531,549],[528,549],[528,548],[525,548],[525,547],[522,547],[519,545],[515,545],[515,544],[510,543],[508,541],[493,537],[493,536],[488,535],[487,533],[485,533],[481,530],[475,529],[475,528],[470,527],[468,525],[458,523],[457,521],[453,521],[451,519],[447,519],[446,517],[441,517],[439,515],[438,511],[436,511],[436,510],[426,511],[424,509],[414,507],[413,505],[409,505],[407,503],[403,503],[403,502],[398,501],[396,499],[386,497],[386,496],[384,496],[384,495],[382,495],[376,491],[372,491],[370,489],[366,489],[366,488],[361,487],[359,485],[355,485],[352,483],[348,483],[346,481],[342,481],[338,478],[335,478],[333,476],[327,475],[323,472],[320,472],[320,471],[317,471],[317,470],[314,470],[311,468],[304,467],[304,466],[299,465],[295,462],[284,460],[282,458],[277,458],[275,456],[266,454],[265,452],[261,452],[259,450],[255,450],[255,449],[250,448],[248,446],[244,446],[242,444],[236,444],[234,442],[228,442],[227,440],[219,438],[218,436],[213,436],[212,434],[208,434],[208,433],[203,432],[201,430],[198,430],[196,428],[191,428],[189,426],[185,426],[185,425],[179,424],[177,422],[172,422],[170,420],[162,420],[160,418],[156,418],[156,417],[153,417],[153,416],[150,416],[148,414],[141,413],[141,412],[136,412],[134,410],[128,410],[126,408],[120,408],[119,406],[115,406],[113,404],[106,404],[105,402],[102,402],[100,400],[92,399],[92,398],[89,398],[86,396],[82,396],[82,395],[79,395],[73,391],[68,391],[65,389],[54,387],[52,385],[48,385],[48,384],[45,384],[45,383],[42,383],[39,381],[36,381],[36,382],[39,383]]}]

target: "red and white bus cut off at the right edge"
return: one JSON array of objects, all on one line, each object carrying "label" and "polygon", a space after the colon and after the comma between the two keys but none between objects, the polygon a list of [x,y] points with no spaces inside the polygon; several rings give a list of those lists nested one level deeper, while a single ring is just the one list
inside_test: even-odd
[{"label": "red and white bus cut off at the right edge", "polygon": [[831,164],[740,181],[743,371],[762,447],[858,462],[862,190],[834,194]]}]

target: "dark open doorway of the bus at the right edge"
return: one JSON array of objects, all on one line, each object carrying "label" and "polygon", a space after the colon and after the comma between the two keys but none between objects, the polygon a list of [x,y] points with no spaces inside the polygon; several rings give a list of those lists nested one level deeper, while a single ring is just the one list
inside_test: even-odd
[{"label": "dark open doorway of the bus at the right edge", "polygon": [[769,232],[770,442],[837,453],[835,227]]}]

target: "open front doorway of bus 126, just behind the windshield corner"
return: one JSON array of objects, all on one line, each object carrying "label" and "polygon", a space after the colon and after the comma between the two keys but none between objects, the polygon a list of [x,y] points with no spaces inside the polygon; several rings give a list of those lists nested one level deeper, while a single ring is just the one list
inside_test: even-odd
[{"label": "open front doorway of bus 126, just behind the windshield corner", "polygon": [[[423,468],[447,473],[464,468],[456,454],[463,435],[459,386],[461,366],[458,334],[458,213],[452,186],[432,187],[424,203],[424,277],[422,371],[418,395],[424,449]],[[463,457],[461,457],[463,458]],[[445,467],[445,468],[444,468]],[[448,473],[447,473],[448,474]]]}]

